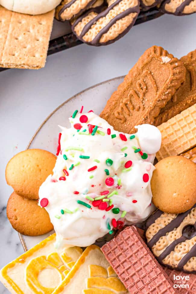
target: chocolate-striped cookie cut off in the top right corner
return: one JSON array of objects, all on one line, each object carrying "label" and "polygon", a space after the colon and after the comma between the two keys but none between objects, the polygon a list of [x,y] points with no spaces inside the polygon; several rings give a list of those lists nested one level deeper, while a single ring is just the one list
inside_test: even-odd
[{"label": "chocolate-striped cookie cut off in the top right corner", "polygon": [[196,0],[165,0],[161,11],[175,15],[186,15],[196,12]]}]

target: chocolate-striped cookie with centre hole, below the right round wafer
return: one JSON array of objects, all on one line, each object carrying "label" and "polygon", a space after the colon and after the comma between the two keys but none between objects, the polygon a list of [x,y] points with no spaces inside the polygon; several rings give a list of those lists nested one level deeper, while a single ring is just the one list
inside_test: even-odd
[{"label": "chocolate-striped cookie with centre hole, below the right round wafer", "polygon": [[179,214],[156,210],[147,220],[146,238],[161,264],[196,272],[196,204]]}]

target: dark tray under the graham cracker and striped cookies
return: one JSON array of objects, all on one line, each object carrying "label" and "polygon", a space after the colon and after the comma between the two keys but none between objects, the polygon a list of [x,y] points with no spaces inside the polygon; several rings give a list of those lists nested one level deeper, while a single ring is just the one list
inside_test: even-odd
[{"label": "dark tray under the graham cracker and striped cookies", "polygon": [[[134,25],[142,24],[146,21],[150,21],[152,19],[160,17],[161,15],[163,15],[163,13],[160,12],[158,8],[151,8],[148,11],[141,11]],[[56,52],[60,52],[62,50],[65,50],[80,44],[82,44],[82,42],[77,39],[74,33],[70,33],[68,35],[58,37],[56,39],[50,40],[48,55],[54,54]],[[6,69],[8,68],[0,68],[0,71],[4,71]]]}]

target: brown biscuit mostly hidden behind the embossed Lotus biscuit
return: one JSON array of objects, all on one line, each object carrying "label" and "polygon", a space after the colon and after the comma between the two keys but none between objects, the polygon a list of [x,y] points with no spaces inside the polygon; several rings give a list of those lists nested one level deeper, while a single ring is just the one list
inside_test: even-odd
[{"label": "brown biscuit mostly hidden behind the embossed Lotus biscuit", "polygon": [[196,50],[180,58],[186,68],[185,82],[176,90],[160,114],[155,118],[158,126],[196,103]]}]

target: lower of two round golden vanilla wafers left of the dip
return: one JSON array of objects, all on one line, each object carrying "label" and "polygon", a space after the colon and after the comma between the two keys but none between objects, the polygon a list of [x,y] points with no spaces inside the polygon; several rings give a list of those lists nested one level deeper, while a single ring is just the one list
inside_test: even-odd
[{"label": "lower of two round golden vanilla wafers left of the dip", "polygon": [[40,236],[53,230],[49,214],[37,200],[23,198],[13,192],[8,200],[7,217],[12,227],[27,236]]}]

